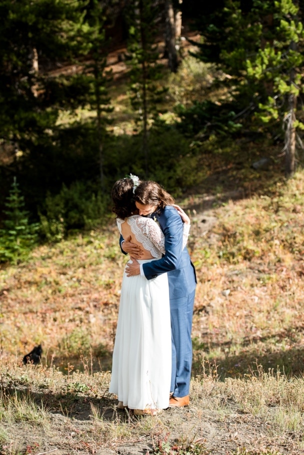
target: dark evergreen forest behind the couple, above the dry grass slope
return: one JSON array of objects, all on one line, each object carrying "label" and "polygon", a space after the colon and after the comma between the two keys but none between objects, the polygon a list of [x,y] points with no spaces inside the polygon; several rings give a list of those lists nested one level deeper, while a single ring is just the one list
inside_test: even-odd
[{"label": "dark evergreen forest behind the couple, above the dry grass slope", "polygon": [[[96,225],[110,211],[113,182],[129,173],[176,197],[210,173],[209,151],[230,147],[241,166],[235,139],[245,137],[266,147],[265,167],[279,160],[274,145],[287,177],[300,163],[300,2],[0,7],[1,261]],[[199,36],[187,90],[178,73],[191,42],[183,29]],[[122,80],[108,66],[113,49],[126,63]]]}]

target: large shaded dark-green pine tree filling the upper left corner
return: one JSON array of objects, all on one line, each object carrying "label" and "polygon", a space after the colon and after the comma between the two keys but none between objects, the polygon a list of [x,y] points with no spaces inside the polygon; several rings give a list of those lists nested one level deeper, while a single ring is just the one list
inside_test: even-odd
[{"label": "large shaded dark-green pine tree filling the upper left corner", "polygon": [[81,38],[86,0],[0,2],[0,139],[19,155],[50,143],[61,109],[85,102],[81,74],[51,74],[87,43]]}]

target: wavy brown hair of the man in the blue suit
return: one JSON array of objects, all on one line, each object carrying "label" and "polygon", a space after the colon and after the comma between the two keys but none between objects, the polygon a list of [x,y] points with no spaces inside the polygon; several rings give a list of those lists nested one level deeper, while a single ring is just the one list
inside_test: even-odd
[{"label": "wavy brown hair of the man in the blue suit", "polygon": [[174,204],[174,198],[158,185],[158,183],[152,182],[151,180],[141,182],[137,186],[134,199],[140,204],[155,205],[157,208]]}]

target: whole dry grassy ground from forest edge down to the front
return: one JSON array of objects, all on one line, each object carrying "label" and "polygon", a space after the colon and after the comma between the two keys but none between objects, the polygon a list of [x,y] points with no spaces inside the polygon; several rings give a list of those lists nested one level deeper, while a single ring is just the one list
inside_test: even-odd
[{"label": "whole dry grassy ground from forest edge down to the front", "polygon": [[[304,173],[268,181],[178,201],[198,279],[188,410],[137,421],[107,392],[126,261],[113,217],[2,267],[1,454],[304,453]],[[40,342],[42,365],[22,366]]]}]

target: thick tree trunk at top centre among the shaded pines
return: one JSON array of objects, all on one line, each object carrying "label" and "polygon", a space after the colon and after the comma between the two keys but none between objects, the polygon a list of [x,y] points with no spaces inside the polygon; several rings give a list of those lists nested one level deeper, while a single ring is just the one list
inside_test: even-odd
[{"label": "thick tree trunk at top centre among the shaded pines", "polygon": [[171,0],[165,0],[165,54],[168,58],[168,66],[171,72],[176,72],[178,58],[175,40],[174,10]]}]

